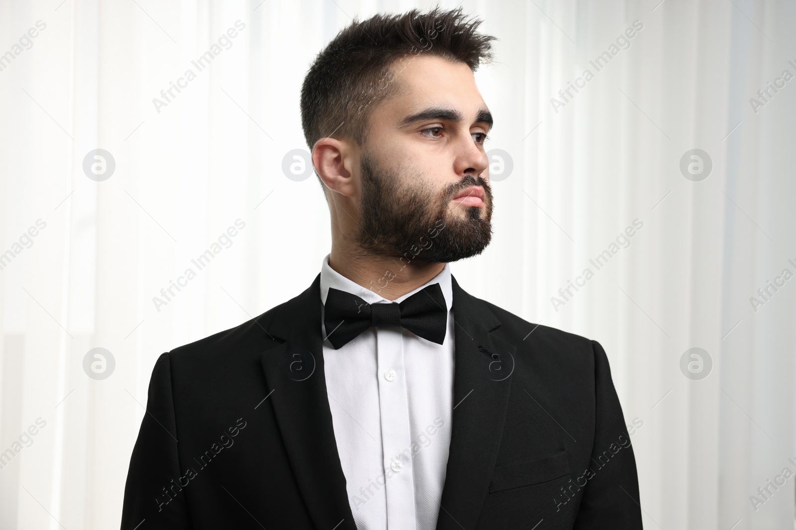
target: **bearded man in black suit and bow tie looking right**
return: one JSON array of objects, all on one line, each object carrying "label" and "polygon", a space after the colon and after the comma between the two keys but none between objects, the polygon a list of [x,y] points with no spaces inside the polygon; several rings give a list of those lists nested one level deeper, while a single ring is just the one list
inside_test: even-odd
[{"label": "bearded man in black suit and bow tie looking right", "polygon": [[293,300],[158,359],[122,528],[642,528],[603,348],[447,265],[491,237],[478,25],[379,15],[318,55],[331,252]]}]

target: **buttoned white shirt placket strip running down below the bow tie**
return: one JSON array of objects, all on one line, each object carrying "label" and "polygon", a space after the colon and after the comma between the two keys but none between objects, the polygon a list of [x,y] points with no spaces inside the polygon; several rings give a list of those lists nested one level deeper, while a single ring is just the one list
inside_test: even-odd
[{"label": "buttoned white shirt placket strip running down below the bow tie", "polygon": [[404,340],[400,330],[377,328],[377,361],[387,527],[416,528]]}]

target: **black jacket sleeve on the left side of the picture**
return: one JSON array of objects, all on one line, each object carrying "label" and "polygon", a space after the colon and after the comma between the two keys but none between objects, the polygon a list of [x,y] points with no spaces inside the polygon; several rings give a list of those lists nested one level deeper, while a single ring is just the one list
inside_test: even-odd
[{"label": "black jacket sleeve on the left side of the picture", "polygon": [[170,357],[162,354],[152,370],[146,413],[127,471],[122,530],[192,528],[186,492],[178,486],[177,440]]}]

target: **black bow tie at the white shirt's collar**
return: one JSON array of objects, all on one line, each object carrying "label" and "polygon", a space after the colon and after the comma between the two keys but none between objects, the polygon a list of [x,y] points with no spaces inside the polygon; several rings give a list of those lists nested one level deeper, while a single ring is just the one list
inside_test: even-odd
[{"label": "black bow tie at the white shirt's collar", "polygon": [[447,305],[439,284],[423,288],[400,304],[368,304],[357,295],[330,287],[323,305],[323,324],[335,350],[372,326],[400,326],[442,344]]}]

